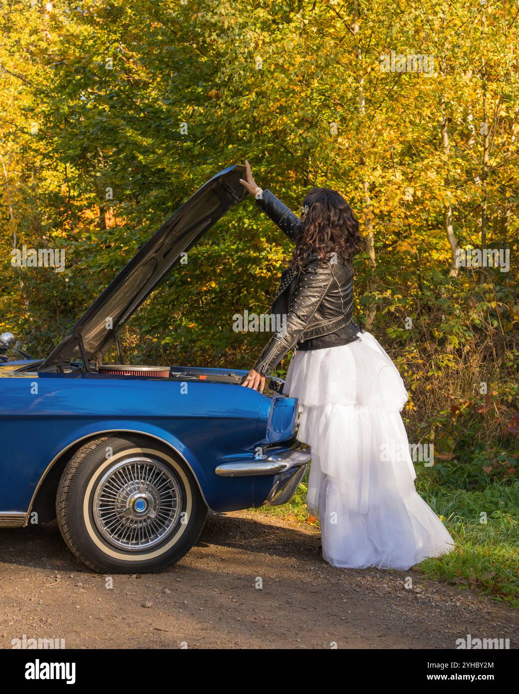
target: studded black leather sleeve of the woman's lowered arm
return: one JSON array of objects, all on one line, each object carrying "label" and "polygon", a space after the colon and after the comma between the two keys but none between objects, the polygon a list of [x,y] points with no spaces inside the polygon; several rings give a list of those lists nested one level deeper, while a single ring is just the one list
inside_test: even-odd
[{"label": "studded black leather sleeve of the woman's lowered arm", "polygon": [[287,316],[281,316],[282,328],[276,330],[259,355],[253,366],[255,371],[261,375],[268,375],[278,366],[284,355],[297,344],[332,281],[330,264],[319,266],[318,262],[314,261],[303,269],[293,295],[291,308]]}]

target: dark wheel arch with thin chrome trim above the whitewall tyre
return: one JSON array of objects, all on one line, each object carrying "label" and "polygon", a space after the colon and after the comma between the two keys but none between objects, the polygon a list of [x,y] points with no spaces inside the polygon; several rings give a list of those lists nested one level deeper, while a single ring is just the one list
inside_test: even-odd
[{"label": "dark wheel arch with thin chrome trim above the whitewall tyre", "polygon": [[[66,448],[64,451],[62,451],[60,455],[56,458],[56,460],[53,462],[52,467],[48,471],[46,471],[43,481],[40,484],[40,488],[37,490],[36,496],[31,503],[31,507],[29,507],[28,509],[28,517],[30,517],[30,514],[32,513],[37,513],[38,525],[50,523],[56,518],[56,494],[58,493],[58,484],[60,484],[61,475],[63,474],[63,471],[65,471],[67,463],[69,462],[71,457],[82,446],[85,446],[85,443],[93,441],[94,439],[99,439],[99,437],[103,436],[127,437],[128,435],[132,434],[134,436],[138,436],[139,439],[146,439],[148,441],[151,441],[152,443],[155,443],[155,445],[158,441],[160,441],[160,443],[162,443],[164,446],[167,446],[173,453],[175,453],[178,456],[178,451],[172,446],[170,446],[169,443],[167,443],[167,441],[164,441],[163,439],[158,439],[157,437],[151,436],[150,434],[146,434],[145,432],[133,432],[128,430],[114,429],[113,431],[103,431],[96,432],[95,434],[90,434],[90,436],[87,436],[84,439],[80,439],[80,441],[74,443],[72,446],[70,446],[70,448]],[[200,483],[196,479],[196,475],[194,474],[190,466],[189,471],[192,473],[194,480],[198,485],[198,489],[200,489],[202,498],[205,501],[205,497],[201,489]],[[207,505],[207,502],[205,502],[205,504]]]}]

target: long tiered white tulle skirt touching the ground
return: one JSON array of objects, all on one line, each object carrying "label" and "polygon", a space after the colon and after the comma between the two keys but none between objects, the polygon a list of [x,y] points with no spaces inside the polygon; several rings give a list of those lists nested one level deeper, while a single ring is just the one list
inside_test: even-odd
[{"label": "long tiered white tulle skirt touching the ground", "polygon": [[414,488],[400,373],[373,335],[359,337],[296,351],[289,366],[284,392],[303,405],[298,439],[312,448],[307,506],[333,566],[407,569],[454,543]]}]

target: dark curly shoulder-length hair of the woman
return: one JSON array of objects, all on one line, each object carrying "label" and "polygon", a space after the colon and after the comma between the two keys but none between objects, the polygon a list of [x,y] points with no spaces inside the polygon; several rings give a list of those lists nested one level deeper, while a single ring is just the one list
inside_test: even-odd
[{"label": "dark curly shoulder-length hair of the woman", "polygon": [[293,262],[300,268],[309,253],[317,253],[323,262],[337,253],[339,262],[349,262],[363,248],[359,222],[343,196],[330,188],[312,188],[303,201]]}]

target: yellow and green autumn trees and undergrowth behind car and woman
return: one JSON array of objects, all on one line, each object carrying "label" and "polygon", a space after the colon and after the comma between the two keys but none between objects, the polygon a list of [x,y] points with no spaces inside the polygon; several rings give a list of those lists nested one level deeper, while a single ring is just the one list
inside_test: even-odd
[{"label": "yellow and green autumn trees and undergrowth behind car and woman", "polygon": [[[4,0],[0,23],[0,332],[44,357],[230,164],[296,212],[337,189],[366,239],[355,315],[457,542],[425,570],[519,604],[518,4]],[[13,264],[24,246],[62,267]],[[128,359],[249,369],[269,336],[232,316],[269,310],[290,251],[235,206],[126,325]]]}]

